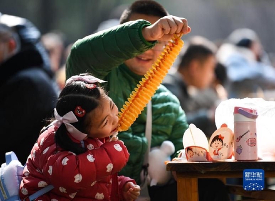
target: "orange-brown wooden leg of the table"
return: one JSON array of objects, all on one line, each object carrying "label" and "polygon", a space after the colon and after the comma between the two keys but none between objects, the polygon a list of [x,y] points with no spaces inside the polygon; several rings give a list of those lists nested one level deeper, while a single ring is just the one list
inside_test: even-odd
[{"label": "orange-brown wooden leg of the table", "polygon": [[198,201],[197,178],[177,176],[177,201]]}]

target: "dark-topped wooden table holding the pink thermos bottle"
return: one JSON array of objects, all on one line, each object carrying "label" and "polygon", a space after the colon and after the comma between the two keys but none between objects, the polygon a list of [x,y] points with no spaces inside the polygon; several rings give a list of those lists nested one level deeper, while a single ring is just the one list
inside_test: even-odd
[{"label": "dark-topped wooden table holding the pink thermos bottle", "polygon": [[[242,178],[243,169],[263,169],[265,177],[275,177],[275,161],[259,159],[256,161],[186,161],[178,159],[168,162],[166,169],[175,171],[177,176],[177,200],[197,201],[198,178]],[[252,191],[246,191],[251,193]],[[261,191],[253,191],[261,192]],[[269,193],[270,194],[270,193]],[[272,193],[273,198],[275,197]]]}]

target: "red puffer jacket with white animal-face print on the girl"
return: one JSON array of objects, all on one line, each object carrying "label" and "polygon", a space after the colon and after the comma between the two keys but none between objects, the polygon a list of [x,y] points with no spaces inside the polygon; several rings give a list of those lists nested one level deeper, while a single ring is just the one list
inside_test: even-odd
[{"label": "red puffer jacket with white animal-face print on the girl", "polygon": [[124,184],[135,183],[129,177],[116,174],[129,157],[123,142],[103,143],[103,140],[87,138],[84,140],[86,152],[76,155],[56,149],[56,129],[48,127],[34,144],[24,168],[20,198],[52,184],[54,188],[36,200],[122,200]]}]

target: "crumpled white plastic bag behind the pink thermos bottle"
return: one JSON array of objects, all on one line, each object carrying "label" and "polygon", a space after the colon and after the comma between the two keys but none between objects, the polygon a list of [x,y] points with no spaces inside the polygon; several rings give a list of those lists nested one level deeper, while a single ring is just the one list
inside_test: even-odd
[{"label": "crumpled white plastic bag behind the pink thermos bottle", "polygon": [[234,130],[234,106],[251,107],[257,110],[257,148],[258,156],[275,159],[275,101],[266,101],[262,98],[231,98],[220,102],[215,110],[215,124],[220,127],[222,123]]}]

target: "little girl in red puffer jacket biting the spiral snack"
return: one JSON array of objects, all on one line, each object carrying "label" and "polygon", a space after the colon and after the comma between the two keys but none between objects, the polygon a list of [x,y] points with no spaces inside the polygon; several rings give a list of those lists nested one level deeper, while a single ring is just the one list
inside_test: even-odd
[{"label": "little girl in red puffer jacket biting the spiral snack", "polygon": [[60,92],[55,119],[43,128],[27,159],[20,198],[46,185],[35,200],[134,200],[140,187],[117,176],[129,153],[123,142],[110,139],[118,109],[91,75],[72,76]]}]

